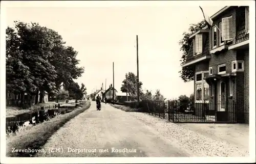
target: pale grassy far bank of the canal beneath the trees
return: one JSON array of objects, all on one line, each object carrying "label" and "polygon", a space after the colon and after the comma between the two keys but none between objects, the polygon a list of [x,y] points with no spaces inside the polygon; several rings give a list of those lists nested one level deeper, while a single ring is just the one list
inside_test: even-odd
[{"label": "pale grassy far bank of the canal beneath the trees", "polygon": [[34,112],[39,110],[41,106],[49,107],[55,104],[57,103],[56,102],[39,103],[36,105],[32,105],[30,108],[26,110],[16,106],[6,106],[6,117],[13,117],[13,116],[28,113],[28,112]]}]

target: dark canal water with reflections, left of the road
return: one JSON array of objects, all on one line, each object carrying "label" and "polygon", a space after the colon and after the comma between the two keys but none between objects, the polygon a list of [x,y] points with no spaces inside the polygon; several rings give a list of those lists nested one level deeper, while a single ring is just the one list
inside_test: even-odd
[{"label": "dark canal water with reflections, left of the road", "polygon": [[[78,107],[79,108],[79,107]],[[48,110],[39,110],[36,112],[30,112],[25,114],[16,115],[14,117],[6,118],[6,132],[15,132],[18,129],[18,126],[26,126],[29,124],[36,125],[42,123],[51,118],[56,117],[57,115],[63,115],[70,113],[77,108],[54,108]]]}]

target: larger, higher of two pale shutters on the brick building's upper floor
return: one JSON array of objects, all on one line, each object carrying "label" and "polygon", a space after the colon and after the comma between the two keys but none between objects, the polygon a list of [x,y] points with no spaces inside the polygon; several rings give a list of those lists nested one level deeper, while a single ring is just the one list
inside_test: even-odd
[{"label": "larger, higher of two pale shutters on the brick building's upper floor", "polygon": [[222,18],[221,36],[223,41],[232,40],[232,16]]}]

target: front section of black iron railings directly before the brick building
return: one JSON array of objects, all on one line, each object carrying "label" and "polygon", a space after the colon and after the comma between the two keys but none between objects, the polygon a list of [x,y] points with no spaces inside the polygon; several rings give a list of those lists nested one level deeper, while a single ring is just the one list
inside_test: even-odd
[{"label": "front section of black iron railings directly before the brick building", "polygon": [[182,103],[169,101],[168,119],[179,123],[236,123],[236,103],[203,101],[200,103]]}]

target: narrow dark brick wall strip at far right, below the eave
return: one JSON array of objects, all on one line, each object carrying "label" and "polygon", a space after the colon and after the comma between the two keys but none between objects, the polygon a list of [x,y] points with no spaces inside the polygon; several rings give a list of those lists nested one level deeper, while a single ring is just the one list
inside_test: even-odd
[{"label": "narrow dark brick wall strip at far right, below the eave", "polygon": [[244,52],[244,111],[245,123],[249,123],[249,50]]}]

